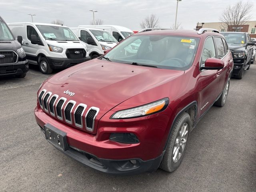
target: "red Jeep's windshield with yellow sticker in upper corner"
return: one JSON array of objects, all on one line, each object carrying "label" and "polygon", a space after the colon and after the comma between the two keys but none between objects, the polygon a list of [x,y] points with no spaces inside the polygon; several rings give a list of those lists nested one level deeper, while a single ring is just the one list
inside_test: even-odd
[{"label": "red Jeep's windshield with yellow sticker in upper corner", "polygon": [[187,70],[192,65],[199,38],[168,35],[134,35],[102,59],[145,67]]}]

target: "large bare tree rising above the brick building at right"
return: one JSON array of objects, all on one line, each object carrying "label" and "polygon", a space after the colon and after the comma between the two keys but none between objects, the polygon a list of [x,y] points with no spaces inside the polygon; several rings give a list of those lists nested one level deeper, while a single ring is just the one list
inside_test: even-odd
[{"label": "large bare tree rising above the brick building at right", "polygon": [[252,3],[242,1],[228,6],[219,18],[223,22],[222,29],[226,31],[236,31],[239,29],[246,21],[250,20],[252,6]]}]

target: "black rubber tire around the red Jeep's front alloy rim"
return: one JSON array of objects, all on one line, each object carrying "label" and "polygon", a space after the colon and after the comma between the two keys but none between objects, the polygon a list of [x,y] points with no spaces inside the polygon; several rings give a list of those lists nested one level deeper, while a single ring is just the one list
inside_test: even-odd
[{"label": "black rubber tire around the red Jeep's front alloy rim", "polygon": [[[178,137],[180,136],[180,130],[182,128],[184,128],[184,125],[187,125],[187,129],[186,129],[187,132],[186,132],[186,134],[184,134],[185,136],[187,135],[186,144],[183,148],[183,152],[181,153],[180,158],[176,162],[174,162],[176,160],[176,159],[173,160],[173,158],[175,158],[174,152],[176,152],[176,150],[174,151],[174,147],[176,146],[176,149],[178,150],[177,155],[180,154],[179,144],[182,142],[180,142],[181,140],[178,141]],[[186,112],[180,114],[180,116],[174,122],[174,125],[171,130],[171,135],[168,140],[167,147],[166,147],[166,151],[164,153],[162,162],[160,164],[160,168],[162,170],[165,170],[167,172],[173,172],[180,166],[180,163],[182,162],[182,159],[186,152],[186,147],[188,145],[188,140],[189,140],[189,136],[190,136],[190,128],[191,128],[191,119],[190,119],[189,114]],[[176,139],[177,139],[177,142],[176,142]]]}]

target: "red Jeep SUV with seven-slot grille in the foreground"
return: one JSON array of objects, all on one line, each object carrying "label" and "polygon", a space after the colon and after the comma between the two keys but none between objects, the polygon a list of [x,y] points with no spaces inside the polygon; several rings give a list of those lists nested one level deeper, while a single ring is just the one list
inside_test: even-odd
[{"label": "red Jeep SUV with seven-slot grille in the foreground", "polygon": [[36,122],[50,144],[96,170],[172,172],[197,122],[224,106],[233,65],[214,29],[134,34],[43,82]]}]

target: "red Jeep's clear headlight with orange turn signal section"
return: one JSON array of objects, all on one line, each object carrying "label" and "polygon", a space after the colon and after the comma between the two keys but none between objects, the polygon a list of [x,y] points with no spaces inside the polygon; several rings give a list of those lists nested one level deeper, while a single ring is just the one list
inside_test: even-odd
[{"label": "red Jeep's clear headlight with orange turn signal section", "polygon": [[169,104],[169,99],[164,98],[146,105],[120,110],[115,112],[110,119],[127,119],[127,118],[135,118],[141,116],[147,116],[150,114],[154,114],[166,109]]}]

